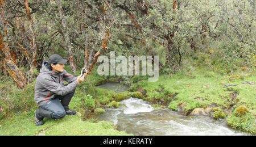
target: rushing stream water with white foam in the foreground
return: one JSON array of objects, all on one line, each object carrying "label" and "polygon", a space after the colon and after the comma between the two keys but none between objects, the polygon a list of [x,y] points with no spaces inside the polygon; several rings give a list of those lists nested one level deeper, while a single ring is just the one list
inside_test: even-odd
[{"label": "rushing stream water with white foam in the foreground", "polygon": [[134,135],[249,135],[207,115],[184,116],[168,108],[154,110],[150,102],[137,98],[121,103],[118,108],[106,108],[98,118],[112,121],[118,130]]}]

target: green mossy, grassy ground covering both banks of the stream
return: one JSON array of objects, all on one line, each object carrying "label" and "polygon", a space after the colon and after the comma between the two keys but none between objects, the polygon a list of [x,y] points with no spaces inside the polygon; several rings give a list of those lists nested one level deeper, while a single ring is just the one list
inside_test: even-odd
[{"label": "green mossy, grassy ground covering both banks of the stream", "polygon": [[[46,123],[39,127],[34,124],[34,110],[38,107],[34,102],[35,79],[25,89],[19,90],[11,79],[1,78],[0,135],[127,135],[117,131],[113,123],[91,119],[88,114],[95,115],[102,108],[112,107],[115,102],[129,96],[148,100],[155,108],[168,107],[175,111],[183,103],[186,114],[195,108],[210,107],[216,119],[226,116],[230,126],[255,133],[255,85],[242,83],[255,81],[254,72],[222,75],[195,69],[193,72],[160,74],[157,82],[134,77],[130,80],[137,83],[122,93],[95,87],[108,82],[108,77],[88,75],[86,82],[77,87],[69,104],[71,109],[82,114],[81,117],[76,114],[57,120],[45,119]],[[111,81],[119,79],[115,77]],[[237,85],[224,86],[224,83]],[[234,115],[234,110],[240,106],[247,108],[242,117]]]}]

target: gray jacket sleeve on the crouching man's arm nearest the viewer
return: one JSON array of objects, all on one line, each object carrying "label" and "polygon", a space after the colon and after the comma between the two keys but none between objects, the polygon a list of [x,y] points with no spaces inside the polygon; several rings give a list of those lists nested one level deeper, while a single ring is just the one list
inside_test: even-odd
[{"label": "gray jacket sleeve on the crouching man's arm nearest the viewer", "polygon": [[60,83],[56,83],[54,82],[51,78],[49,77],[44,77],[41,78],[39,80],[39,82],[41,83],[41,85],[51,91],[52,93],[55,93],[57,95],[66,95],[68,93],[71,93],[71,91],[73,91],[76,86],[78,86],[79,84],[75,81],[69,83],[67,86],[63,86],[61,87]]}]

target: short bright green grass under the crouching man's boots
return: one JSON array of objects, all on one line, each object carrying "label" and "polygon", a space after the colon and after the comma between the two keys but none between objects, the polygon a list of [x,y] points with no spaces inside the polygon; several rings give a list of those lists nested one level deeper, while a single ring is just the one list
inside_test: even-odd
[{"label": "short bright green grass under the crouching man's boots", "polygon": [[98,123],[82,121],[78,115],[66,115],[62,119],[44,119],[44,121],[44,125],[36,126],[32,111],[15,114],[0,121],[0,135],[129,135],[118,131],[109,121],[98,121]]}]

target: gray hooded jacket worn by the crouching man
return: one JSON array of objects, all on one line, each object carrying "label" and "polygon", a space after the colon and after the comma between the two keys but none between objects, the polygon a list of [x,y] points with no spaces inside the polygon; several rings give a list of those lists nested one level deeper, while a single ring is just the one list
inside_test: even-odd
[{"label": "gray hooded jacket worn by the crouching man", "polygon": [[[38,106],[42,106],[47,100],[54,99],[57,95],[66,95],[71,93],[79,84],[76,82],[76,77],[63,72],[54,72],[47,68],[48,60],[44,60],[40,73],[36,78],[35,83],[35,102]],[[64,81],[69,84],[64,86]]]}]

